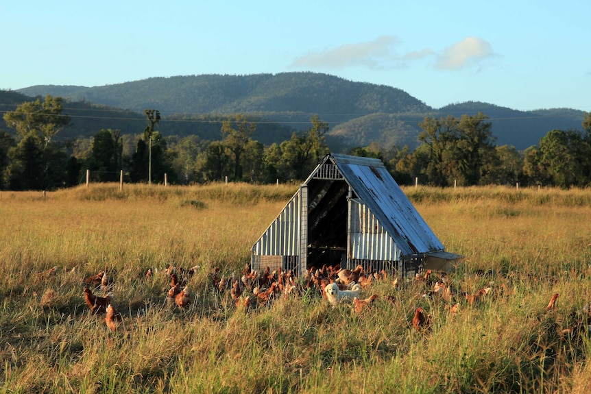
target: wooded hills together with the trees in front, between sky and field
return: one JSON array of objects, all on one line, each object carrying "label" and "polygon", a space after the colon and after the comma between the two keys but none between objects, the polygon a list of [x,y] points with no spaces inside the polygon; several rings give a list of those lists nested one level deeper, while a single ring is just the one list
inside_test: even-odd
[{"label": "wooded hills together with the trees in front, between sky and field", "polygon": [[568,188],[591,178],[585,112],[436,110],[400,89],[317,73],[0,90],[0,113],[5,190],[75,186],[87,169],[97,182],[121,171],[127,182],[289,182],[330,151],[380,158],[400,184]]}]

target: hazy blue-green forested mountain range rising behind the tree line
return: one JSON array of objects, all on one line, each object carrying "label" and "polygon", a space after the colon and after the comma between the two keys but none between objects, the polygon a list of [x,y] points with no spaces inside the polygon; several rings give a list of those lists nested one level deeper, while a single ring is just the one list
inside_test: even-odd
[{"label": "hazy blue-green forested mountain range rising behind the tree line", "polygon": [[[577,110],[522,112],[474,101],[435,109],[398,88],[351,82],[322,73],[153,77],[106,86],[31,86],[18,91],[28,96],[62,96],[72,101],[85,100],[131,110],[140,114],[130,116],[134,119],[141,119],[143,110],[156,108],[167,121],[162,121],[163,134],[197,134],[204,139],[210,139],[210,134],[206,132],[206,125],[202,127],[200,124],[200,116],[244,113],[292,130],[303,130],[309,126],[311,116],[318,114],[329,123],[329,134],[341,140],[339,144],[348,147],[380,143],[389,148],[396,143],[408,144],[413,149],[418,145],[418,123],[425,116],[451,114],[459,117],[482,112],[492,121],[498,145],[526,149],[538,144],[540,138],[553,129],[580,129],[583,118],[583,112]],[[3,102],[1,93],[0,102]],[[68,110],[65,112],[71,114]],[[191,118],[196,121],[189,122]],[[77,128],[86,133],[89,127],[81,124],[84,119],[88,119],[86,115],[80,118]],[[164,127],[165,123],[167,127]],[[108,127],[120,130],[127,125],[124,122],[121,127],[108,124]],[[259,126],[265,124],[261,121]],[[273,138],[261,142],[285,140],[286,133],[281,132],[280,127],[273,130],[276,131],[271,133]]]}]

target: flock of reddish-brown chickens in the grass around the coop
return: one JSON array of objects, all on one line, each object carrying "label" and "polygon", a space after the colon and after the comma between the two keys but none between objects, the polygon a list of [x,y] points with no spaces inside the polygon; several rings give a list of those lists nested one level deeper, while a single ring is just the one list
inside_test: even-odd
[{"label": "flock of reddish-brown chickens in the grass around the coop", "polygon": [[[182,269],[180,267],[169,266],[167,269],[158,271],[157,269],[148,269],[145,272],[145,278],[153,278],[155,275],[165,275],[170,282],[167,291],[167,304],[173,308],[184,310],[192,304],[191,292],[189,291],[189,279],[199,269],[195,266],[191,269]],[[37,275],[55,275],[57,267],[49,271],[37,273]],[[490,293],[495,295],[508,295],[514,292],[514,288],[509,288],[507,282],[500,286],[495,286],[494,282],[488,282],[487,286],[478,291],[466,292],[457,291],[447,280],[445,273],[433,273],[430,269],[423,274],[415,274],[413,279],[399,280],[398,277],[392,280],[386,271],[365,271],[361,265],[356,269],[341,269],[337,266],[324,265],[322,268],[311,268],[306,270],[302,278],[296,278],[291,270],[289,271],[271,271],[269,267],[264,272],[253,271],[250,264],[246,264],[241,272],[241,277],[232,274],[226,278],[220,275],[219,267],[216,267],[209,275],[208,282],[213,291],[219,293],[229,293],[234,305],[237,308],[244,308],[245,311],[254,308],[264,308],[272,304],[277,297],[289,298],[291,296],[311,293],[323,297],[327,302],[337,306],[337,304],[350,304],[352,311],[356,314],[362,314],[365,308],[370,308],[371,304],[381,296],[372,293],[367,298],[359,297],[361,291],[372,291],[374,285],[378,282],[386,282],[387,288],[398,291],[401,288],[413,288],[416,291],[417,298],[441,299],[444,302],[444,308],[450,315],[459,313],[460,308],[474,306],[487,297]],[[339,291],[346,293],[348,297],[343,297],[335,301],[327,296],[325,289],[327,286],[336,284]],[[112,280],[109,280],[108,273],[101,271],[97,275],[88,276],[84,279],[84,299],[92,315],[105,315],[106,326],[110,330],[117,330],[123,321],[121,313],[115,310],[112,305]],[[104,292],[104,296],[93,293]],[[354,289],[354,290],[352,290]],[[558,293],[555,293],[542,312],[551,312],[555,310]],[[383,298],[392,305],[396,304],[394,295],[384,295]],[[462,305],[462,306],[461,306]],[[570,314],[570,319],[566,327],[560,328],[560,334],[563,338],[573,338],[581,334],[591,332],[591,308],[589,304],[580,311]],[[427,332],[431,328],[432,317],[426,314],[420,306],[415,308],[411,325],[418,332]]]}]

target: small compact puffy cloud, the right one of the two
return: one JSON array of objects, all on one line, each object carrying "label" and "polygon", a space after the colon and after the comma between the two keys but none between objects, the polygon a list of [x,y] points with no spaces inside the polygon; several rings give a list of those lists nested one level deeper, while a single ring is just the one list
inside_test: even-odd
[{"label": "small compact puffy cloud, the right one of the two", "polygon": [[482,60],[495,56],[492,46],[485,40],[467,37],[444,49],[437,56],[435,68],[443,70],[461,70],[467,64],[478,64]]}]

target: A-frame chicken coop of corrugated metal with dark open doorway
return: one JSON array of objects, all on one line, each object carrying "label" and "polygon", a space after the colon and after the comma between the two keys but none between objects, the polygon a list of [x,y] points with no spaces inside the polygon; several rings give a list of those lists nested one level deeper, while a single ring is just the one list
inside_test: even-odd
[{"label": "A-frame chicken coop of corrugated metal with dark open doorway", "polygon": [[383,162],[328,154],[252,247],[253,270],[303,274],[323,264],[412,275],[448,253]]}]

